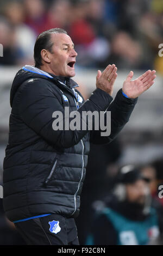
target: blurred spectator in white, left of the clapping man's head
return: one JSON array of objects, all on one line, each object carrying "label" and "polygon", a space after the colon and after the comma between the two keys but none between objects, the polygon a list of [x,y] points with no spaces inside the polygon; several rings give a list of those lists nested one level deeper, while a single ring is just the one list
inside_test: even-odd
[{"label": "blurred spectator in white, left of the clapping man's head", "polygon": [[[19,1],[9,1],[3,7],[3,15],[7,17],[11,25],[12,40],[8,41],[11,47],[16,50],[15,57],[10,56],[10,65],[14,59],[15,64],[33,64],[33,47],[36,35],[24,25],[24,6]],[[8,32],[8,37],[9,37]],[[5,53],[4,53],[5,57]],[[5,59],[5,58],[4,58]]]}]

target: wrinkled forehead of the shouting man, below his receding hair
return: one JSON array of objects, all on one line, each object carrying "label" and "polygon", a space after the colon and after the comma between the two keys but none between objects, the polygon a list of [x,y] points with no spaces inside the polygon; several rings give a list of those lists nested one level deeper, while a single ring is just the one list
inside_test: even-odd
[{"label": "wrinkled forehead of the shouting man, below his receding hair", "polygon": [[73,45],[71,37],[64,33],[52,33],[51,40],[54,42],[54,45],[60,46],[63,44]]}]

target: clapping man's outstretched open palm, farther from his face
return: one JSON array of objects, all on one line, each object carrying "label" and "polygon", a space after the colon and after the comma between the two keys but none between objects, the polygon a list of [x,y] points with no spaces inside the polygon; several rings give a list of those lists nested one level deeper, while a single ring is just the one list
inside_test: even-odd
[{"label": "clapping man's outstretched open palm, farther from his face", "polygon": [[130,71],[126,80],[123,83],[122,91],[130,98],[136,98],[140,96],[143,92],[149,89],[154,83],[154,79],[156,78],[155,70],[146,71],[143,75],[138,77],[137,79],[131,81],[133,78],[134,72]]}]

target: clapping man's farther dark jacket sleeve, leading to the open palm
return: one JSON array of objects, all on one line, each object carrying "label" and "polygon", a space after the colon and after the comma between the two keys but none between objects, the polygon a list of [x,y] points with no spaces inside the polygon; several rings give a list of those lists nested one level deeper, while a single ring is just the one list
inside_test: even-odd
[{"label": "clapping man's farther dark jacket sleeve, leading to the open palm", "polygon": [[[118,133],[123,129],[124,125],[129,121],[130,115],[134,110],[138,97],[130,99],[122,94],[122,88],[118,90],[117,95],[107,108],[107,111],[111,112],[111,132],[109,136],[101,136],[101,130],[91,131],[90,142],[93,144],[106,144],[110,143],[117,137]],[[106,112],[105,112],[105,123]],[[106,124],[107,125],[107,124]]]}]

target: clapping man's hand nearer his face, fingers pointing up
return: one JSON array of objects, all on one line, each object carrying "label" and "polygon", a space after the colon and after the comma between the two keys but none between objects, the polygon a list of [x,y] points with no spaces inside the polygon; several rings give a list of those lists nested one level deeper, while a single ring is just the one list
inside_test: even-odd
[{"label": "clapping man's hand nearer his face, fingers pointing up", "polygon": [[103,72],[98,70],[97,76],[96,76],[96,87],[112,95],[114,82],[117,78],[116,71],[117,71],[117,68],[115,64],[106,66]]}]

